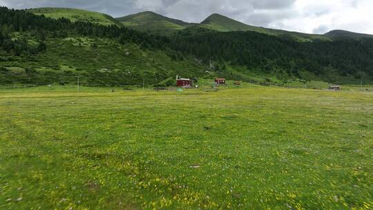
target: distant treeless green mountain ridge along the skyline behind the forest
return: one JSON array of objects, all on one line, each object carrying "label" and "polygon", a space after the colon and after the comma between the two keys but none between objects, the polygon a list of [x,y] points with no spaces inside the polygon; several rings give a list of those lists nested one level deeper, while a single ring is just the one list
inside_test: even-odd
[{"label": "distant treeless green mountain ridge along the skyline behind the forest", "polygon": [[324,35],[314,35],[303,32],[250,26],[246,23],[242,23],[218,13],[209,15],[209,17],[207,17],[200,23],[188,23],[179,19],[169,18],[152,11],[138,12],[136,14],[117,18],[100,12],[91,12],[88,10],[81,10],[76,8],[31,8],[28,9],[28,11],[34,13],[35,15],[44,15],[46,17],[52,17],[55,19],[66,17],[70,19],[70,21],[89,21],[105,26],[126,26],[128,28],[133,28],[134,30],[140,30],[142,32],[154,32],[158,35],[172,35],[174,32],[185,30],[189,27],[194,26],[220,32],[254,31],[267,35],[291,37],[293,39],[297,39],[298,41],[312,41],[313,39],[325,40],[336,38],[373,38],[373,35],[350,32],[347,30],[331,30]]}]

